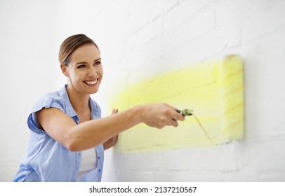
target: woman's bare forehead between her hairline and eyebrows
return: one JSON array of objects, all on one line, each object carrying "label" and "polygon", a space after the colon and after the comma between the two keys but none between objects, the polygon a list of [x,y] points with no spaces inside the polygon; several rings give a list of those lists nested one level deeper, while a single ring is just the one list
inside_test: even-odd
[{"label": "woman's bare forehead between her hairline and eyebrows", "polygon": [[98,48],[91,44],[80,45],[79,48],[72,52],[70,56],[71,61],[93,61],[100,58],[100,51]]}]

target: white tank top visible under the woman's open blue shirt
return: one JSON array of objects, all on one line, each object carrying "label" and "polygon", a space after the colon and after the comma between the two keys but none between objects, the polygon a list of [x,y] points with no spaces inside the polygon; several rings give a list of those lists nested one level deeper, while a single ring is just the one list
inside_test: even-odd
[{"label": "white tank top visible under the woman's open blue shirt", "polygon": [[80,181],[84,174],[88,173],[91,169],[97,167],[97,155],[94,148],[90,148],[86,151],[82,151],[81,164],[79,167],[79,174],[77,181]]}]

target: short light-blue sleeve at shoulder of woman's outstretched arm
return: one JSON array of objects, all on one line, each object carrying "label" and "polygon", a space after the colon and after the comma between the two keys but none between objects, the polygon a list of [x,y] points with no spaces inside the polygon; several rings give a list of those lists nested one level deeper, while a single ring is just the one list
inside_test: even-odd
[{"label": "short light-blue sleeve at shoulder of woman's outstretched arm", "polygon": [[46,134],[44,130],[41,130],[41,128],[39,128],[34,113],[40,111],[41,109],[51,109],[51,108],[60,109],[60,111],[65,113],[65,103],[60,97],[52,97],[52,96],[42,97],[34,104],[34,106],[32,107],[32,111],[31,113],[29,113],[29,116],[27,118],[27,125],[29,127],[29,130],[37,134]]}]

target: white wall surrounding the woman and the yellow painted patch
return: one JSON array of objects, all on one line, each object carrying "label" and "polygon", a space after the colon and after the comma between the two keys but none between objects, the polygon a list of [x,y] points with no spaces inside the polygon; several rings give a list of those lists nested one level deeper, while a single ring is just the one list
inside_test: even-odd
[{"label": "white wall surrounding the woman and the yellow painted patch", "polygon": [[101,51],[104,78],[92,97],[102,116],[116,107],[114,94],[149,78],[230,54],[244,64],[241,140],[131,153],[117,146],[105,153],[103,181],[285,181],[284,10],[282,0],[0,1],[0,181],[18,170],[34,101],[67,83],[58,48],[77,33]]}]

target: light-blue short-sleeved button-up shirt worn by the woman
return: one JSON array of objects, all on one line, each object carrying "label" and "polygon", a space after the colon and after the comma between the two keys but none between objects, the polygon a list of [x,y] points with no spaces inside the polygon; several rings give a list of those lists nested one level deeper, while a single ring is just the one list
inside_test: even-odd
[{"label": "light-blue short-sleeved button-up shirt worn by the woman", "polygon": [[[13,181],[77,181],[81,162],[81,151],[72,152],[65,146],[55,141],[46,132],[41,130],[35,119],[34,113],[46,108],[57,108],[79,123],[79,117],[69,102],[66,90],[67,85],[60,90],[50,92],[41,97],[29,114],[27,125],[31,130],[29,145],[25,157],[20,162],[20,169]],[[98,104],[89,99],[91,106],[91,119],[101,118]],[[101,181],[104,162],[104,148],[95,146],[97,165],[95,169],[82,176],[81,181]]]}]

